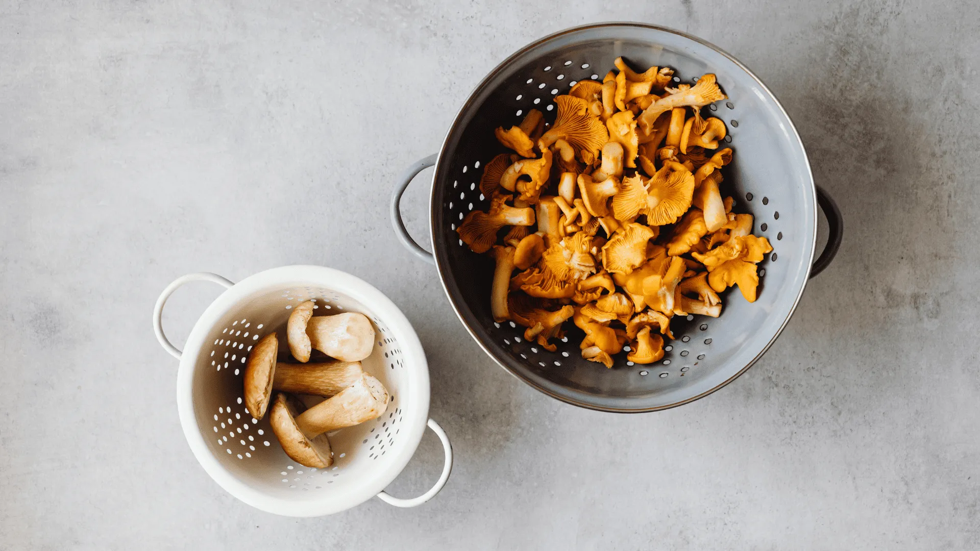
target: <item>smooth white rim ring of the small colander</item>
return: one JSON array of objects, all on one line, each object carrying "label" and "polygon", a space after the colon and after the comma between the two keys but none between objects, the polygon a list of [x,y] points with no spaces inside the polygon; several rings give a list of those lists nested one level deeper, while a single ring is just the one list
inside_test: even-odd
[{"label": "smooth white rim ring of the small colander", "polygon": [[[387,467],[375,476],[361,481],[344,496],[322,494],[322,499],[288,499],[272,496],[254,489],[221,465],[205,442],[204,434],[197,423],[197,411],[193,399],[193,376],[197,357],[205,347],[209,331],[221,317],[234,308],[243,298],[272,286],[287,285],[293,281],[321,281],[324,288],[342,292],[363,303],[384,321],[384,325],[398,340],[404,356],[404,368],[410,370],[411,384],[407,389],[399,389],[400,395],[408,394],[408,399],[417,404],[406,412],[402,439],[404,445]],[[177,370],[176,401],[180,426],[187,443],[201,467],[228,493],[252,507],[268,513],[287,517],[319,517],[345,511],[355,507],[383,490],[408,465],[421,441],[428,421],[430,399],[428,363],[421,341],[415,328],[401,309],[384,293],[364,279],[346,272],[322,266],[283,266],[250,275],[225,289],[201,314],[190,335]]]}]

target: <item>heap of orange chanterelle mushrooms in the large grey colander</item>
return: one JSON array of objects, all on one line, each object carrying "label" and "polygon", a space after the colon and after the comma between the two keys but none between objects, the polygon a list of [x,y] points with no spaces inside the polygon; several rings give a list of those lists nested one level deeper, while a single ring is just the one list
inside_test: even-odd
[{"label": "heap of orange chanterelle mushrooms in the large grey colander", "polygon": [[490,209],[457,229],[496,259],[497,322],[527,327],[525,339],[554,352],[549,341],[571,318],[585,332],[582,357],[609,368],[627,343],[628,361],[660,360],[670,318],[719,316],[729,286],[755,301],[756,265],[772,250],[718,188],[732,150],[718,150],[724,123],[701,114],[726,98],[714,75],[668,87],[669,68],[615,66],[557,96],[554,124],[531,110],[496,129],[515,153],[486,164]]}]

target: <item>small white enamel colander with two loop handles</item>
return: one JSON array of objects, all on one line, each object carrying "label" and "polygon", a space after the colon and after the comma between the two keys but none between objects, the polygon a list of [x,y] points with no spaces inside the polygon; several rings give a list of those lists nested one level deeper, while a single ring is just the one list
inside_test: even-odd
[{"label": "small white enamel colander with two loop handles", "polygon": [[[189,281],[225,287],[177,350],[161,324],[164,305]],[[269,425],[256,421],[242,396],[245,359],[260,338],[283,332],[295,305],[313,300],[315,315],[360,312],[374,325],[374,350],[362,365],[391,395],[376,420],[331,433],[334,463],[311,469],[289,459]],[[329,268],[288,266],[239,281],[221,275],[183,275],[164,289],[153,312],[160,344],[180,361],[177,412],[184,436],[208,475],[253,507],[291,517],[329,515],[377,495],[391,505],[415,507],[446,484],[453,452],[443,429],[428,418],[429,378],[415,329],[388,297],[366,281]],[[383,490],[416,451],[428,426],[442,440],[446,463],[436,484],[413,499]]]}]

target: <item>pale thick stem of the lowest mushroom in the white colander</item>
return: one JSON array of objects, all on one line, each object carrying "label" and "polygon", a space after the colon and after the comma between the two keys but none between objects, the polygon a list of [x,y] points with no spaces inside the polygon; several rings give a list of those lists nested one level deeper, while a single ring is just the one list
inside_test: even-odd
[{"label": "pale thick stem of the lowest mushroom in the white colander", "polygon": [[388,391],[381,381],[365,374],[332,398],[323,400],[296,418],[307,438],[377,419],[388,407]]}]

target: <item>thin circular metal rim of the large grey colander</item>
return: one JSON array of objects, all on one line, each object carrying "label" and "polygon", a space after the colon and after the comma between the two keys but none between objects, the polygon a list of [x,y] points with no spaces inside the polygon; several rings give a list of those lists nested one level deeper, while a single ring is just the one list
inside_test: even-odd
[{"label": "thin circular metal rim of the large grey colander", "polygon": [[[803,277],[803,283],[800,285],[800,290],[797,293],[797,296],[794,298],[793,305],[790,307],[790,310],[789,310],[789,312],[786,315],[786,319],[783,320],[783,323],[776,329],[776,331],[773,333],[773,335],[769,339],[769,341],[765,344],[765,346],[763,346],[760,349],[759,353],[756,354],[756,356],[753,357],[753,359],[750,362],[748,362],[744,368],[742,368],[741,370],[739,370],[738,373],[734,374],[733,376],[728,377],[727,379],[723,380],[722,382],[718,383],[717,385],[711,387],[709,390],[706,390],[706,391],[704,391],[704,392],[702,392],[700,394],[697,394],[695,396],[692,396],[690,398],[685,398],[683,400],[678,400],[677,402],[673,402],[673,403],[670,403],[670,404],[665,404],[665,405],[662,405],[662,406],[654,406],[654,407],[649,407],[649,408],[615,408],[615,407],[600,406],[600,405],[591,404],[591,403],[588,403],[588,402],[583,402],[583,401],[575,400],[575,399],[573,399],[571,397],[560,395],[560,394],[557,394],[555,392],[552,392],[548,388],[546,388],[546,387],[544,387],[544,386],[542,386],[540,384],[537,384],[534,380],[532,380],[532,379],[530,379],[528,377],[522,376],[521,374],[517,373],[515,370],[511,369],[511,367],[509,367],[505,362],[502,362],[501,359],[498,358],[483,343],[482,339],[477,335],[476,330],[473,327],[471,327],[466,322],[466,318],[464,317],[463,313],[461,312],[460,306],[457,304],[456,297],[454,297],[453,293],[450,292],[449,287],[446,284],[446,271],[448,270],[448,267],[447,266],[443,266],[443,257],[444,256],[448,256],[448,255],[440,254],[440,253],[444,252],[446,243],[444,241],[439,240],[438,241],[438,245],[437,245],[436,225],[434,224],[435,223],[435,220],[436,220],[436,216],[437,216],[437,209],[440,208],[440,205],[436,205],[436,201],[435,201],[436,182],[441,179],[442,173],[444,171],[448,170],[444,166],[444,164],[442,162],[444,160],[444,158],[445,158],[444,154],[445,154],[447,148],[450,145],[450,138],[452,137],[454,131],[456,131],[457,126],[461,124],[464,116],[467,113],[469,113],[469,111],[474,107],[473,104],[474,104],[474,101],[476,99],[476,96],[477,96],[477,94],[480,91],[482,91],[483,87],[488,82],[490,82],[497,74],[499,74],[505,68],[507,68],[508,66],[510,66],[510,64],[515,59],[521,57],[523,54],[527,53],[528,51],[533,50],[534,48],[537,48],[541,44],[544,44],[544,43],[546,43],[546,42],[548,42],[550,40],[553,40],[553,39],[555,39],[557,37],[563,36],[564,34],[569,34],[569,33],[572,33],[572,32],[577,32],[577,31],[580,31],[580,30],[585,30],[585,29],[590,29],[590,28],[600,28],[600,27],[607,27],[607,26],[609,26],[609,27],[613,27],[613,26],[641,27],[641,28],[648,28],[648,29],[652,29],[652,30],[657,30],[657,31],[661,31],[661,32],[666,32],[666,33],[678,35],[678,36],[680,36],[682,38],[686,38],[688,40],[691,40],[693,42],[696,42],[698,44],[701,44],[703,46],[706,46],[708,48],[711,48],[711,50],[714,50],[716,53],[718,53],[721,56],[723,56],[724,58],[728,59],[730,62],[732,62],[733,64],[735,64],[736,67],[738,67],[739,69],[741,69],[742,71],[744,71],[747,75],[749,75],[752,79],[754,79],[756,81],[756,83],[759,84],[760,88],[765,92],[765,94],[767,96],[767,99],[769,99],[769,100],[772,101],[773,105],[775,105],[776,108],[779,110],[779,113],[783,117],[785,117],[786,118],[786,121],[789,123],[789,129],[792,132],[791,140],[795,141],[794,145],[798,145],[800,147],[800,152],[802,153],[803,159],[805,161],[805,163],[803,163],[803,165],[804,165],[803,168],[805,170],[805,178],[809,182],[810,197],[812,198],[811,210],[812,210],[812,216],[813,216],[814,224],[813,224],[813,232],[812,232],[812,235],[810,236],[811,246],[809,247],[809,249],[810,249],[810,251],[809,251],[809,259],[806,259],[807,260],[807,263],[806,263],[807,268],[806,268],[805,274],[803,274],[804,275],[804,277]],[[432,247],[431,248],[432,253],[433,253],[432,256],[435,259],[436,271],[439,273],[439,281],[442,284],[443,291],[445,291],[446,296],[449,298],[450,305],[453,307],[453,311],[456,313],[457,318],[459,318],[460,319],[460,322],[463,324],[463,326],[466,327],[466,331],[469,332],[469,335],[473,338],[473,340],[476,341],[476,343],[479,345],[479,347],[482,348],[483,351],[487,354],[487,356],[489,356],[491,359],[493,359],[493,361],[496,362],[498,366],[500,366],[501,368],[503,368],[505,371],[507,371],[508,373],[510,373],[512,376],[515,376],[517,379],[519,379],[519,380],[527,383],[532,388],[534,388],[534,389],[536,389],[536,390],[538,390],[538,391],[540,391],[540,392],[542,392],[542,393],[544,393],[544,394],[546,394],[548,396],[551,396],[552,398],[561,400],[564,403],[571,404],[573,406],[578,406],[580,408],[586,408],[586,409],[595,410],[595,411],[609,412],[609,413],[649,413],[649,412],[656,412],[656,411],[667,410],[667,409],[670,409],[670,408],[675,408],[677,406],[682,406],[684,404],[688,404],[690,402],[694,402],[695,400],[700,400],[701,398],[704,398],[705,396],[708,396],[709,394],[711,394],[711,393],[713,393],[713,392],[721,389],[722,387],[728,385],[731,381],[735,380],[739,376],[742,376],[742,374],[744,374],[745,372],[749,371],[749,369],[752,366],[754,366],[756,364],[756,362],[758,362],[760,360],[760,358],[765,354],[765,352],[768,351],[769,347],[772,346],[772,344],[776,341],[776,339],[779,338],[779,335],[782,334],[783,329],[786,328],[787,324],[789,324],[790,320],[793,318],[793,314],[796,313],[797,306],[800,304],[800,300],[803,298],[803,293],[804,293],[804,291],[807,288],[807,282],[809,280],[809,274],[810,274],[810,271],[811,271],[812,265],[813,265],[813,255],[814,255],[814,252],[815,252],[815,245],[816,245],[816,220],[817,220],[816,185],[815,185],[815,183],[813,181],[813,173],[812,173],[812,170],[810,169],[810,166],[809,166],[809,155],[807,154],[807,148],[806,148],[806,146],[803,143],[803,138],[800,136],[800,132],[797,130],[796,125],[793,123],[793,119],[789,116],[789,113],[786,112],[786,109],[783,107],[782,103],[779,102],[778,98],[776,98],[775,94],[772,93],[772,90],[770,90],[769,87],[766,86],[764,82],[762,82],[761,78],[758,75],[756,75],[755,73],[753,73],[753,71],[751,69],[749,69],[745,64],[743,64],[742,62],[740,62],[738,59],[736,59],[734,56],[732,56],[728,52],[722,50],[718,46],[715,46],[711,42],[708,42],[707,40],[704,40],[704,39],[702,39],[702,38],[700,38],[698,36],[695,36],[693,34],[689,34],[689,33],[684,32],[682,30],[677,30],[675,28],[670,28],[670,27],[662,26],[662,25],[653,25],[653,24],[647,24],[647,23],[640,23],[640,22],[603,22],[603,23],[595,23],[595,24],[571,26],[571,27],[565,28],[564,30],[559,30],[557,32],[553,32],[553,33],[548,34],[546,36],[543,36],[543,37],[541,37],[541,38],[539,38],[537,40],[534,40],[533,42],[528,43],[524,47],[516,50],[513,54],[511,54],[510,56],[508,56],[504,61],[502,61],[500,64],[498,64],[496,67],[494,67],[493,70],[491,70],[486,76],[484,76],[479,81],[479,83],[476,84],[475,87],[473,87],[472,91],[470,91],[469,95],[466,97],[466,101],[463,103],[463,106],[460,108],[460,110],[456,114],[456,117],[453,119],[453,123],[451,125],[449,125],[449,128],[447,129],[446,134],[445,134],[445,136],[443,138],[442,145],[439,148],[439,154],[438,154],[438,156],[436,158],[435,170],[433,171],[433,175],[432,175],[432,189],[431,189],[430,194],[429,194],[429,240],[430,240],[431,247]]]}]

